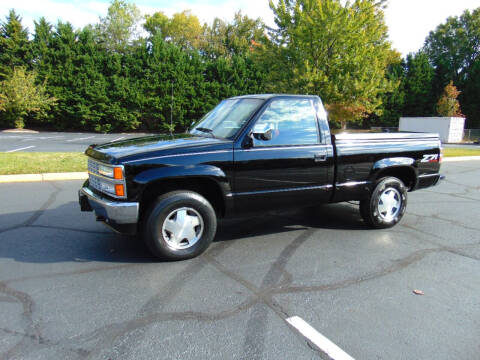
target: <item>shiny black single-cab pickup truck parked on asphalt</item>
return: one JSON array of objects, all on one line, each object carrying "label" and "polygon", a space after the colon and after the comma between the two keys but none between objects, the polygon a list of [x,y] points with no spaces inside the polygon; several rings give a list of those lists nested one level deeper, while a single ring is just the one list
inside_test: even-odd
[{"label": "shiny black single-cab pickup truck parked on asphalt", "polygon": [[207,249],[218,218],[248,212],[356,200],[368,225],[388,228],[408,191],[439,181],[440,145],[437,134],[331,135],[317,96],[240,96],[186,134],[91,145],[79,202],[178,260]]}]

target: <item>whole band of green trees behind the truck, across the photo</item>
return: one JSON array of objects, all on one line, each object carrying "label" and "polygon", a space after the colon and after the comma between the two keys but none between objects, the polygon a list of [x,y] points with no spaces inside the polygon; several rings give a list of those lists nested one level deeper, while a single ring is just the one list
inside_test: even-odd
[{"label": "whole band of green trees behind the truck, across the photo", "polygon": [[[270,6],[274,29],[241,12],[202,25],[190,11],[159,11],[142,29],[135,5],[113,0],[97,24],[40,18],[30,34],[12,10],[0,23],[0,82],[25,69],[36,79],[26,90],[55,99],[22,112],[32,128],[181,132],[224,98],[263,92],[319,95],[333,126],[397,126],[401,116],[437,115],[450,81],[467,127],[480,126],[480,8],[447,19],[402,59],[388,41],[385,0]],[[0,127],[11,127],[2,99]]]}]

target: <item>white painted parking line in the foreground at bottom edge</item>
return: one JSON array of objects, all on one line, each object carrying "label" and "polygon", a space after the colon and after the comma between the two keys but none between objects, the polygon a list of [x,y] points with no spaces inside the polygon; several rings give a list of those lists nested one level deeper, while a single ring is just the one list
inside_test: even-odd
[{"label": "white painted parking line in the foreground at bottom edge", "polygon": [[325,336],[311,327],[305,320],[298,316],[292,316],[286,321],[298,330],[305,338],[315,344],[322,352],[324,352],[332,360],[354,360],[345,351],[340,349]]}]

